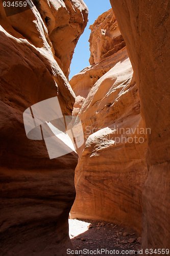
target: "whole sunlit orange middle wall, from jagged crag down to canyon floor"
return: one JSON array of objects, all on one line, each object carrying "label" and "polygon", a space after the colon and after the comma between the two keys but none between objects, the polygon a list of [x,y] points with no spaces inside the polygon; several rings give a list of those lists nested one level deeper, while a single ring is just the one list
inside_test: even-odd
[{"label": "whole sunlit orange middle wall, from jagged crag down to canyon floor", "polygon": [[[71,80],[76,95],[85,98],[78,114],[85,145],[76,168],[77,196],[71,218],[123,223],[140,232],[142,187],[148,170],[138,87],[112,10],[91,29],[90,60],[94,63]],[[97,69],[99,78],[91,83],[91,90],[85,84],[79,90],[81,77],[90,79]]]}]

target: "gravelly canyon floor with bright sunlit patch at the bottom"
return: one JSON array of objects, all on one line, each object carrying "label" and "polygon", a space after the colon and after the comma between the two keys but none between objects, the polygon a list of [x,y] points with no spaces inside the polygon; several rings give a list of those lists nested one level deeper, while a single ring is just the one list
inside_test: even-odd
[{"label": "gravelly canyon floor with bright sunlit patch at the bottom", "polygon": [[[113,223],[69,219],[69,236],[75,255],[80,256],[137,255],[140,250],[141,238],[137,233]],[[82,253],[83,249],[85,249],[84,253]],[[101,249],[108,251],[102,252]],[[86,253],[87,250],[89,250],[88,253]],[[68,251],[69,254],[71,255],[70,251]]]}]

